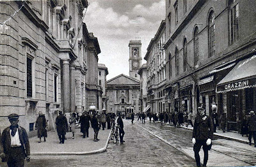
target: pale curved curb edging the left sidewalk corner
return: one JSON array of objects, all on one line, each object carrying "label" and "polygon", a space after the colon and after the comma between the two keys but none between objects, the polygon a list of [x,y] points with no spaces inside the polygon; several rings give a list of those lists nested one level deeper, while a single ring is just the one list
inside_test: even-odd
[{"label": "pale curved curb edging the left sidewalk corner", "polygon": [[110,135],[111,135],[111,131],[108,134],[108,139],[105,146],[98,150],[93,150],[90,152],[36,152],[36,153],[31,153],[30,155],[31,156],[69,156],[69,155],[81,156],[81,155],[97,154],[100,152],[105,152],[107,150]]}]

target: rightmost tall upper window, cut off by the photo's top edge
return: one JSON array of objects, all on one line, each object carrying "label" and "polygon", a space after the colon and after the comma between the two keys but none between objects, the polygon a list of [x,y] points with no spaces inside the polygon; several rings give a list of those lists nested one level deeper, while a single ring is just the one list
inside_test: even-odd
[{"label": "rightmost tall upper window, cut off by the photo's top edge", "polygon": [[232,45],[239,38],[239,1],[228,1],[228,30],[229,30],[229,43]]}]

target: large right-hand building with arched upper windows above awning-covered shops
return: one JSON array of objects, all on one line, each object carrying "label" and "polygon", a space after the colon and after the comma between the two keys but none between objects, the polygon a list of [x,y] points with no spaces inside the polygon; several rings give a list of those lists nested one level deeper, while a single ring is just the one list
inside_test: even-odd
[{"label": "large right-hand building with arched upper windows above awning-covered shops", "polygon": [[166,0],[168,111],[227,113],[239,130],[256,110],[256,1]]}]

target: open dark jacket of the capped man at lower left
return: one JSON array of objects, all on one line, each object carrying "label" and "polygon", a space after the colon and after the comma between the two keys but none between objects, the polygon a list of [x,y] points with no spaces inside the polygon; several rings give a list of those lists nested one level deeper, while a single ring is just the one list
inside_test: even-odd
[{"label": "open dark jacket of the capped man at lower left", "polygon": [[[20,143],[21,143],[21,147],[23,149],[24,155],[29,156],[30,155],[30,145],[29,145],[28,134],[26,132],[26,129],[19,126],[18,133],[19,133]],[[10,149],[11,149],[10,127],[6,127],[3,130],[3,133],[1,136],[1,143],[3,146],[4,154],[5,154],[3,161],[8,161],[8,159],[10,157]],[[26,154],[25,154],[25,149],[26,149]]]}]

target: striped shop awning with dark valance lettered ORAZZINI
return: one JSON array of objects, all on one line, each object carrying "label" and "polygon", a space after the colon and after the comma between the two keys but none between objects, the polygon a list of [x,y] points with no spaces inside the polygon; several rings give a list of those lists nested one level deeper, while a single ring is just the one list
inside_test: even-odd
[{"label": "striped shop awning with dark valance lettered ORAZZINI", "polygon": [[256,87],[256,55],[236,64],[217,84],[216,92],[237,91],[250,87]]}]

